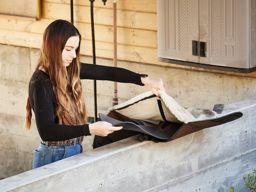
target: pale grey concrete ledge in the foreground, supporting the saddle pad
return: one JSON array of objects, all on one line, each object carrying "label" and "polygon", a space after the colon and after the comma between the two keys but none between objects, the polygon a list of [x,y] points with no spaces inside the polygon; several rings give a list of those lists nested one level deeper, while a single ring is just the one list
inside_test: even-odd
[{"label": "pale grey concrete ledge in the foreground, supporting the saddle pad", "polygon": [[0,191],[243,191],[256,165],[256,96],[243,116],[167,143],[118,141],[0,181]]}]

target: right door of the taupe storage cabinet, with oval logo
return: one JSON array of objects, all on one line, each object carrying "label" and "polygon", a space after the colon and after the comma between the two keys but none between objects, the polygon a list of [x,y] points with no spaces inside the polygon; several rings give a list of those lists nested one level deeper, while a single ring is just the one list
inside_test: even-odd
[{"label": "right door of the taupe storage cabinet, with oval logo", "polygon": [[199,0],[199,39],[205,57],[199,63],[250,68],[249,0]]}]

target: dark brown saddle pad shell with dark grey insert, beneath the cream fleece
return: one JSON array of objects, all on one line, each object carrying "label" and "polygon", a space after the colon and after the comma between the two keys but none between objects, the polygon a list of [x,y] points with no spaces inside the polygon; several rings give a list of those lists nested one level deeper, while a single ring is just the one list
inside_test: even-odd
[{"label": "dark brown saddle pad shell with dark grey insert, beneath the cream fleece", "polygon": [[123,129],[115,131],[106,137],[95,135],[93,149],[107,145],[122,139],[139,135],[139,141],[149,140],[154,142],[168,142],[183,137],[190,133],[200,131],[205,128],[222,125],[234,121],[243,116],[242,112],[233,112],[225,116],[188,122],[180,124],[174,122],[161,122],[155,125],[146,121],[131,119],[116,111],[110,111],[107,115],[99,114],[101,121],[107,121],[113,126],[123,126]]}]

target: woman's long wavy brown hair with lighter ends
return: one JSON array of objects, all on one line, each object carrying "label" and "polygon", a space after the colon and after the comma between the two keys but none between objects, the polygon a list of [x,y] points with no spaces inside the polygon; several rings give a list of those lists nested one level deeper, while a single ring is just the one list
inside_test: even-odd
[{"label": "woman's long wavy brown hair with lighter ends", "polygon": [[[62,51],[67,40],[72,36],[79,36],[79,47],[76,49],[76,58],[73,58],[67,70],[62,61]],[[79,77],[80,43],[79,31],[65,20],[52,22],[43,33],[43,45],[39,52],[36,69],[43,67],[50,76],[57,101],[56,115],[59,118],[59,124],[62,125],[86,124],[87,114]],[[31,116],[31,104],[28,98],[24,125],[26,130],[30,130]]]}]

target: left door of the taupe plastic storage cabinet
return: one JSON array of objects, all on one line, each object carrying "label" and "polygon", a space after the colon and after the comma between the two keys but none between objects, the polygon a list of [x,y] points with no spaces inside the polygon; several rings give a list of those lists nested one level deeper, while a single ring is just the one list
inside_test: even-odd
[{"label": "left door of the taupe plastic storage cabinet", "polygon": [[199,63],[199,1],[157,0],[157,17],[158,57]]}]

